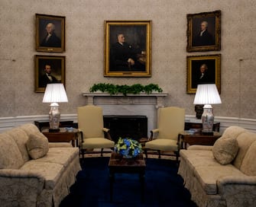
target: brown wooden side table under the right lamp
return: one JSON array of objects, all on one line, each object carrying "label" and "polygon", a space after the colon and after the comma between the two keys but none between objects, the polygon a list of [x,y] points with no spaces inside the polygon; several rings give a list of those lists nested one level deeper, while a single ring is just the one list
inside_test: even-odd
[{"label": "brown wooden side table under the right lamp", "polygon": [[219,132],[213,132],[213,135],[203,135],[202,133],[180,132],[178,142],[181,142],[181,148],[186,149],[186,145],[214,145],[215,141],[222,135]]}]

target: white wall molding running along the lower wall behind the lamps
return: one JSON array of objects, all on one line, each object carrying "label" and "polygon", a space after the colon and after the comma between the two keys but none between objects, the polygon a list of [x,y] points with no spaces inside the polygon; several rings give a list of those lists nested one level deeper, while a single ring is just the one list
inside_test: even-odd
[{"label": "white wall molding running along the lower wall behind the lamps", "polygon": [[[62,121],[72,120],[74,123],[77,123],[77,114],[61,114],[60,119]],[[195,119],[195,116],[186,115],[186,120],[188,119]],[[5,130],[25,123],[34,123],[34,121],[47,120],[47,115],[0,117],[0,132],[4,132]],[[228,128],[228,126],[241,126],[251,132],[256,132],[256,119],[215,116],[215,121],[220,122],[220,132],[223,132],[226,128]]]}]

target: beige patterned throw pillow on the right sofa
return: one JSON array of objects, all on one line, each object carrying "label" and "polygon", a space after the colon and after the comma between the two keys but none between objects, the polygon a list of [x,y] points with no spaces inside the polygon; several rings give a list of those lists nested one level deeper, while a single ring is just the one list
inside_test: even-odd
[{"label": "beige patterned throw pillow on the right sofa", "polygon": [[238,141],[235,138],[220,138],[213,145],[212,153],[220,164],[229,164],[234,160],[238,149]]}]

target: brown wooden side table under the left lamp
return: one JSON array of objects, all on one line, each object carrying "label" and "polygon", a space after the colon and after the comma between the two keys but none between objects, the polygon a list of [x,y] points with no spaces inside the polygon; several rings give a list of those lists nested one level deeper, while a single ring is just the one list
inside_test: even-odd
[{"label": "brown wooden side table under the left lamp", "polygon": [[[73,132],[67,132],[65,128],[60,128],[60,132],[49,132],[49,129],[43,129],[42,133],[49,142],[70,142],[73,147],[78,146],[79,130],[73,129]],[[75,144],[76,141],[76,144]]]}]

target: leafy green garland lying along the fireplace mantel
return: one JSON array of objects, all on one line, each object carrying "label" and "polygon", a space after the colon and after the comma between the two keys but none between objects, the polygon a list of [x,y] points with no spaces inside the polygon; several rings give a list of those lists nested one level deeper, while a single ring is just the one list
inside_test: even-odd
[{"label": "leafy green garland lying along the fireplace mantel", "polygon": [[133,84],[131,86],[127,84],[118,85],[118,84],[105,84],[105,83],[99,83],[99,84],[93,84],[92,87],[89,89],[89,91],[96,92],[96,91],[102,91],[108,92],[111,95],[114,94],[123,94],[126,96],[127,94],[140,94],[140,93],[146,93],[146,94],[152,94],[153,91],[157,91],[158,93],[163,92],[162,88],[158,86],[158,84]]}]

